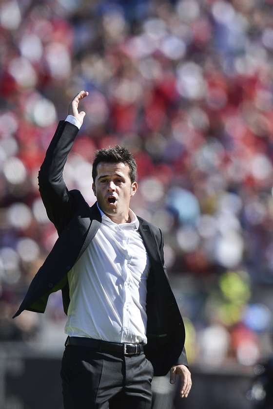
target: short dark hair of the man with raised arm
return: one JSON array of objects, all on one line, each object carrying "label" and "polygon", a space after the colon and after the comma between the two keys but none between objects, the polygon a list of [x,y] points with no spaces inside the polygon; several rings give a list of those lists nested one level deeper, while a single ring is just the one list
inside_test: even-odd
[{"label": "short dark hair of the man with raised arm", "polygon": [[129,177],[131,182],[135,182],[137,173],[137,164],[134,156],[128,149],[116,145],[115,148],[103,148],[96,150],[93,161],[92,177],[93,181],[98,175],[97,167],[100,162],[119,163],[122,162],[130,168]]}]

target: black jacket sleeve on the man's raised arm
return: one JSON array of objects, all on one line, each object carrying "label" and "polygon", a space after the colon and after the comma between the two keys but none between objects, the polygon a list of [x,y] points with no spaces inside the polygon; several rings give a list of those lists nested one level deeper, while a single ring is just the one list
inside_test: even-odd
[{"label": "black jacket sleeve on the man's raised arm", "polygon": [[41,199],[58,232],[73,214],[73,196],[69,194],[62,172],[77,133],[75,125],[59,122],[38,175]]}]

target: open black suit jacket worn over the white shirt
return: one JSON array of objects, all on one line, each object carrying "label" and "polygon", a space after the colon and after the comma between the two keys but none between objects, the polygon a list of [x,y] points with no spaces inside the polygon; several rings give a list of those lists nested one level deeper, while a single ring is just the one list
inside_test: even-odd
[{"label": "open black suit jacket worn over the white shirt", "polygon": [[[89,207],[78,190],[69,191],[62,177],[77,133],[76,126],[59,122],[40,168],[39,191],[59,238],[32,280],[14,317],[23,310],[43,313],[49,295],[58,290],[62,291],[63,309],[67,314],[70,302],[67,273],[93,240],[100,226],[98,206],[95,204]],[[159,376],[166,374],[178,359],[179,363],[187,365],[185,329],[164,269],[161,230],[140,217],[138,220],[139,233],[151,262],[147,280],[148,342],[145,353],[154,366],[155,375]]]}]

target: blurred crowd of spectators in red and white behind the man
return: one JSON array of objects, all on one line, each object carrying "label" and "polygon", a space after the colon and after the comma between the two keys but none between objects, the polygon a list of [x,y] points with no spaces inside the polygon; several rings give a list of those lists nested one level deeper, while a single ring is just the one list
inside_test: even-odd
[{"label": "blurred crowd of spectators in red and white behind the man", "polygon": [[11,316],[57,239],[39,167],[86,90],[65,182],[92,205],[95,150],[134,153],[132,207],[164,233],[190,363],[271,353],[273,0],[4,0],[0,38],[0,340],[64,337],[59,293]]}]

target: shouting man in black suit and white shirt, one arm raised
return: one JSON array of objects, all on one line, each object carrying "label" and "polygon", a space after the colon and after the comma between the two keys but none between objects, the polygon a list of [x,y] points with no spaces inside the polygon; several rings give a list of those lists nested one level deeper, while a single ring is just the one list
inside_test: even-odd
[{"label": "shouting man in black suit and white shirt, one arm raised", "polygon": [[[130,209],[136,162],[127,149],[101,149],[93,163],[91,208],[68,191],[62,171],[85,112],[81,91],[69,106],[39,171],[39,191],[59,239],[20,305],[43,313],[62,290],[68,335],[61,377],[65,409],[151,406],[151,381],[171,369],[191,389],[185,330],[165,274],[160,229]],[[180,358],[179,358],[180,356]],[[180,365],[176,365],[177,359]]]}]

